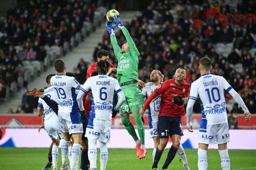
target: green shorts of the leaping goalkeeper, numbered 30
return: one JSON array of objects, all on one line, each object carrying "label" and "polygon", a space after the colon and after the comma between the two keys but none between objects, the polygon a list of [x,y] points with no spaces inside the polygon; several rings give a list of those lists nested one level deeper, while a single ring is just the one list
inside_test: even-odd
[{"label": "green shorts of the leaping goalkeeper, numbered 30", "polygon": [[[142,91],[139,90],[138,86],[122,88],[122,91],[125,95],[125,102],[119,108],[120,115],[122,115],[123,113],[130,114],[133,111],[138,111],[143,109],[143,104],[144,104],[143,93]],[[119,97],[118,97],[118,100],[119,100]]]}]

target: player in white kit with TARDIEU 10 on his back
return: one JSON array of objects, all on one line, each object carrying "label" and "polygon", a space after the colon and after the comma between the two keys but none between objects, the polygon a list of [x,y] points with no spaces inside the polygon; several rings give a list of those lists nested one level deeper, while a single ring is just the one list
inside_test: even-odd
[{"label": "player in white kit with TARDIEU 10 on his back", "polygon": [[187,129],[193,132],[191,116],[197,96],[201,103],[202,120],[198,133],[198,169],[208,166],[207,149],[209,144],[218,144],[220,164],[223,170],[230,170],[227,142],[229,142],[228,118],[224,90],[242,107],[245,121],[250,121],[251,114],[240,95],[222,76],[211,75],[211,59],[203,57],[199,61],[201,77],[191,84],[189,101],[186,108]]}]

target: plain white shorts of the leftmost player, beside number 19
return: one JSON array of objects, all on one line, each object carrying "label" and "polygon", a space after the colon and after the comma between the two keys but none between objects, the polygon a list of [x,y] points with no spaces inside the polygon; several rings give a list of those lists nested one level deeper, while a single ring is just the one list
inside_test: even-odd
[{"label": "plain white shorts of the leftmost player, beside number 19", "polygon": [[63,138],[63,133],[61,131],[61,124],[58,119],[58,116],[54,113],[54,116],[52,116],[53,119],[47,119],[44,123],[45,130],[50,136],[50,138],[53,138],[55,140],[58,139],[58,134],[60,138]]}]

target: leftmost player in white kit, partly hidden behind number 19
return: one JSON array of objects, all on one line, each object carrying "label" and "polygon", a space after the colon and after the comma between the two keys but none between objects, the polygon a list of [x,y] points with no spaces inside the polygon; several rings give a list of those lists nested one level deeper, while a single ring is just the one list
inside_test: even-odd
[{"label": "leftmost player in white kit, partly hidden behind number 19", "polygon": [[[51,98],[54,101],[58,101],[57,94],[55,89],[51,85],[51,77],[55,76],[55,74],[48,75],[46,77],[46,83],[48,84],[48,87],[45,89],[45,95],[47,95],[49,98]],[[60,138],[63,138],[63,133],[61,131],[61,124],[58,118],[58,115],[53,111],[51,107],[49,107],[44,100],[41,98],[38,99],[38,107],[37,107],[37,114],[40,115],[42,110],[44,109],[44,114],[42,118],[42,124],[44,124],[45,130],[50,136],[50,138],[53,141],[53,148],[52,148],[52,164],[53,164],[53,170],[57,170],[57,160],[59,155],[59,144],[60,144]]]}]

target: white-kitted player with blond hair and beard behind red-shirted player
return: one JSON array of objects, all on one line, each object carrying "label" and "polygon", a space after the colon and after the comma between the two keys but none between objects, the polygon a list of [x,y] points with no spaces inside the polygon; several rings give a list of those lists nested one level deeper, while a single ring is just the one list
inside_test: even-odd
[{"label": "white-kitted player with blond hair and beard behind red-shirted player", "polygon": [[[142,87],[141,91],[144,95],[144,100],[147,99],[153,91],[157,88],[159,84],[161,84],[164,80],[164,75],[159,70],[153,70],[150,74],[150,81],[149,83],[146,83],[145,87]],[[158,119],[159,119],[159,111],[160,111],[160,101],[161,101],[161,95],[157,96],[155,99],[153,99],[148,107],[148,124],[150,128],[150,138],[153,138],[154,141],[154,150],[153,150],[153,161],[156,154],[156,148],[160,144],[159,134],[158,134]],[[183,166],[186,170],[189,170],[189,166],[187,163],[187,158],[185,151],[180,144],[178,151],[179,155],[181,156],[181,160],[183,162]]]}]

